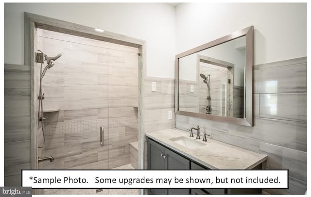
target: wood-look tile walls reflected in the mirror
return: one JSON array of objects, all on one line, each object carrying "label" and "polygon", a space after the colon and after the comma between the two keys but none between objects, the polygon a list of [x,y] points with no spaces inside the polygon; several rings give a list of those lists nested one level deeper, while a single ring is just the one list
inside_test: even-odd
[{"label": "wood-look tile walls reflected in the mirror", "polygon": [[[227,79],[230,79],[230,76],[232,78],[228,70],[217,69],[217,66],[203,66],[206,63],[201,64],[200,73],[210,74],[212,114],[241,117],[243,115],[243,87],[227,83]],[[198,82],[179,80],[180,111],[206,114],[207,111],[204,108],[207,106],[207,85],[201,77],[198,79]],[[190,92],[190,85],[193,85],[193,92]]]}]

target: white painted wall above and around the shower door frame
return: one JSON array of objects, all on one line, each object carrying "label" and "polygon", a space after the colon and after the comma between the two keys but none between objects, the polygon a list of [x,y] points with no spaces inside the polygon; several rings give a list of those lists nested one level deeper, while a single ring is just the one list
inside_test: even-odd
[{"label": "white painted wall above and around the shower door frame", "polygon": [[174,78],[175,12],[168,3],[4,3],[4,63],[24,64],[23,13],[147,41],[147,76]]}]

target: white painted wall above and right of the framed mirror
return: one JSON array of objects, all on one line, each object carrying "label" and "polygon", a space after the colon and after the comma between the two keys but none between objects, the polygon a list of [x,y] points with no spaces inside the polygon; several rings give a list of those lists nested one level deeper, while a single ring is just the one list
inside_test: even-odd
[{"label": "white painted wall above and right of the framed mirror", "polygon": [[255,65],[307,56],[306,3],[181,3],[176,54],[254,25]]}]

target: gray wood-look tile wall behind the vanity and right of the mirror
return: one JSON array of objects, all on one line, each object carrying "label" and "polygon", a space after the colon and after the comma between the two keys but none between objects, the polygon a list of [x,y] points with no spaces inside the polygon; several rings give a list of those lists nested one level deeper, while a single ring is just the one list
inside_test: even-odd
[{"label": "gray wood-look tile wall behind the vanity and right of the mirror", "polygon": [[289,169],[289,189],[263,191],[304,194],[307,189],[306,69],[306,58],[254,66],[254,127],[176,115],[176,128],[186,131],[190,126],[200,125],[215,140],[266,154],[264,169]]}]

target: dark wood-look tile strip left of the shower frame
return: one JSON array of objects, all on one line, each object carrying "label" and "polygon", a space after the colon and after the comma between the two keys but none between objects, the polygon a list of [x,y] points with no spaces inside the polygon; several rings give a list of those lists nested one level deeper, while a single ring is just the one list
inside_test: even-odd
[{"label": "dark wood-look tile strip left of the shower frame", "polygon": [[4,65],[4,186],[31,168],[30,66]]}]

